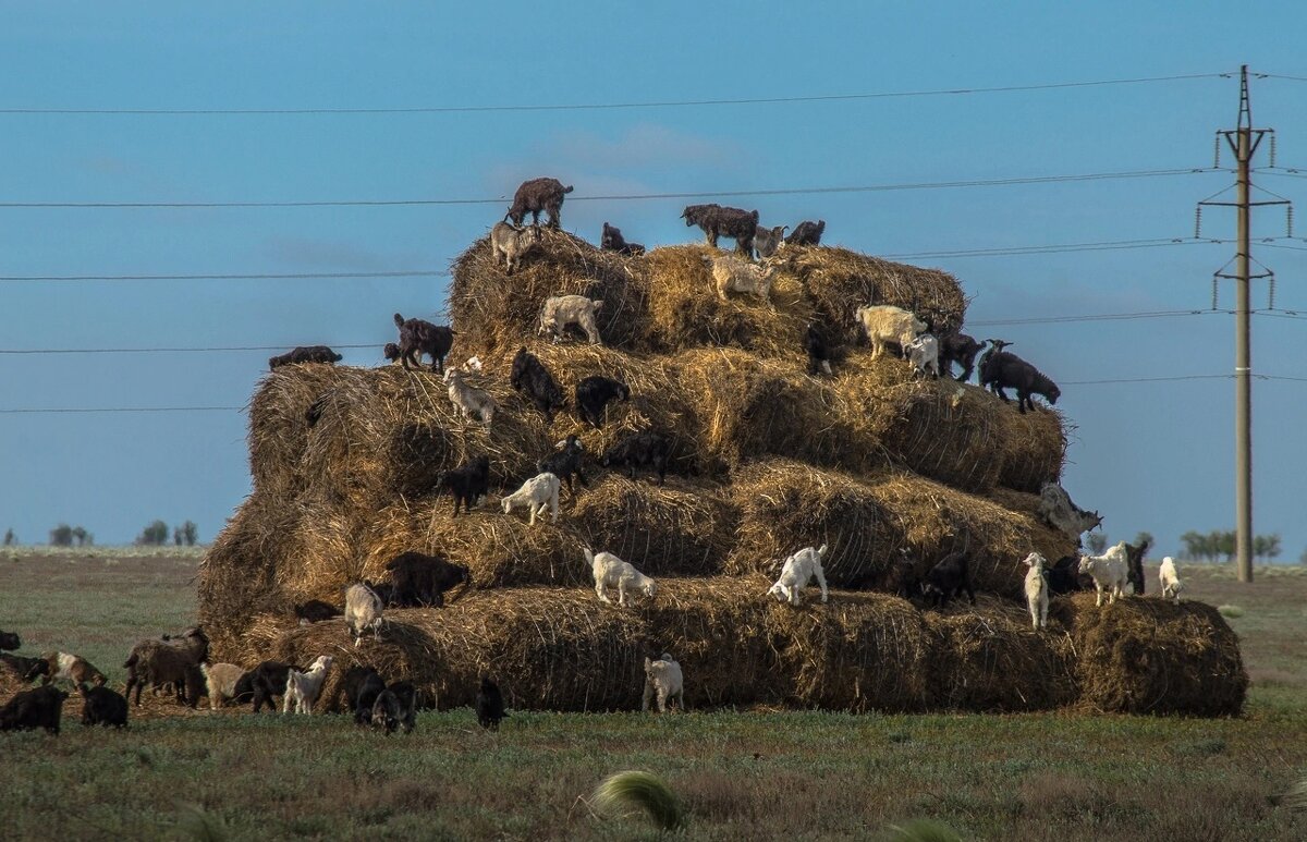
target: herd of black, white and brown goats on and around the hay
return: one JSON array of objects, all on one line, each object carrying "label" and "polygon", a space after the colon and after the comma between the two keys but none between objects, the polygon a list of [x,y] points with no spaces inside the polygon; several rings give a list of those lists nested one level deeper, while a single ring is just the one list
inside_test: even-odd
[{"label": "herd of black, white and brown goats on and around the hay", "polygon": [[[538,178],[524,182],[519,187],[512,207],[490,234],[495,263],[503,258],[506,273],[521,264],[524,256],[540,242],[540,213],[549,214],[548,225],[559,225],[563,196],[571,192],[553,178]],[[532,225],[524,225],[527,213],[532,214]],[[825,221],[801,222],[787,238],[788,226],[763,227],[758,225],[757,210],[741,210],[716,204],[690,205],[682,213],[686,225],[698,225],[710,244],[716,246],[719,237],[736,241],[737,256],[712,259],[712,276],[716,292],[725,298],[728,292],[742,292],[763,298],[770,305],[771,267],[767,260],[779,248],[793,246],[817,246],[825,230]],[[639,243],[629,243],[621,231],[604,224],[601,247],[626,255],[643,254]],[[754,256],[761,264],[754,263]],[[591,344],[601,344],[595,314],[603,301],[591,301],[583,295],[559,295],[545,301],[541,309],[540,333],[553,333],[554,341],[561,341],[569,326],[586,335]],[[918,373],[933,377],[951,377],[953,363],[962,366],[959,382],[971,378],[976,354],[984,344],[959,332],[935,336],[931,326],[915,314],[886,305],[868,305],[856,311],[859,327],[872,346],[872,357],[880,357],[887,344],[897,344],[904,358],[910,360]],[[461,417],[476,416],[490,426],[498,404],[485,390],[467,382],[468,374],[481,370],[477,358],[463,366],[444,369],[444,358],[454,343],[454,332],[446,326],[433,324],[422,319],[404,319],[395,314],[399,328],[399,343],[386,346],[386,357],[401,362],[405,369],[420,367],[422,357],[431,357],[431,370],[439,373],[448,384],[450,400]],[[1034,408],[1033,394],[1043,395],[1050,403],[1056,403],[1057,386],[1040,374],[1034,366],[1004,350],[1009,343],[987,340],[988,349],[979,362],[980,384],[989,387],[1004,401],[1005,388],[1016,388],[1018,409]],[[808,354],[809,373],[813,375],[831,374],[831,346],[825,332],[810,323],[802,339]],[[329,348],[305,346],[273,357],[272,369],[291,363],[333,363],[340,361]],[[558,382],[553,378],[538,357],[521,348],[512,361],[510,384],[548,418],[565,407],[566,401]],[[621,380],[606,377],[587,377],[576,384],[575,407],[582,421],[595,429],[604,425],[606,407],[614,400],[629,400],[630,388]],[[306,422],[314,426],[323,412],[320,401],[314,403]],[[515,507],[525,507],[529,523],[546,513],[558,519],[558,496],[562,482],[574,492],[572,480],[588,486],[582,471],[584,446],[578,435],[569,435],[558,442],[555,452],[537,464],[537,476],[527,480],[516,492],[502,497],[505,514]],[[600,458],[605,468],[626,468],[635,479],[638,467],[650,467],[657,475],[659,484],[665,480],[672,441],[657,430],[633,433]],[[451,471],[446,471],[437,484],[437,496],[450,492],[454,498],[454,514],[460,509],[472,507],[489,496],[490,462],[478,456]],[[1076,539],[1097,527],[1102,518],[1098,513],[1078,509],[1070,502],[1065,490],[1056,484],[1046,484],[1040,493],[1039,515],[1051,526]],[[634,565],[609,552],[592,552],[582,548],[586,564],[595,579],[595,592],[600,601],[609,604],[609,592],[617,591],[617,604],[625,607],[635,595],[652,599],[657,584]],[[814,582],[821,590],[821,601],[829,600],[822,560],[827,545],[806,547],[784,560],[780,577],[767,594],[792,607],[801,604],[801,594]],[[1050,595],[1068,594],[1091,586],[1098,594],[1097,605],[1102,605],[1103,595],[1108,603],[1124,594],[1127,583],[1133,583],[1134,592],[1142,594],[1142,558],[1148,545],[1134,547],[1121,541],[1102,556],[1077,553],[1050,564],[1039,553],[1030,553],[1022,562],[1029,567],[1025,575],[1025,595],[1030,609],[1031,625],[1038,632],[1047,624]],[[924,575],[918,575],[918,565],[906,549],[901,550],[894,573],[893,590],[904,599],[925,600],[928,605],[940,608],[950,599],[963,592],[975,604],[975,591],[966,553],[955,552],[931,566]],[[345,626],[358,647],[366,633],[371,632],[379,641],[383,629],[386,608],[435,607],[444,604],[444,592],[471,581],[468,569],[450,562],[439,556],[418,552],[405,552],[387,564],[388,582],[359,582],[345,588],[344,608],[322,600],[310,600],[294,607],[301,624],[323,622],[344,617]],[[1167,557],[1162,561],[1159,579],[1163,598],[1180,599],[1182,583],[1176,575],[1175,562]],[[179,635],[165,634],[158,638],[140,641],[127,658],[127,686],[124,693],[112,690],[106,684],[103,672],[86,659],[69,652],[47,652],[39,658],[10,654],[3,650],[17,650],[21,641],[17,634],[0,632],[0,669],[8,669],[22,682],[41,680],[41,686],[20,690],[0,707],[0,731],[18,728],[46,728],[59,732],[60,714],[68,693],[58,686],[59,681],[71,682],[84,698],[82,723],[86,726],[105,724],[123,727],[127,724],[128,698],[135,690],[135,703],[141,703],[141,690],[153,688],[156,693],[174,693],[178,701],[195,707],[199,699],[208,696],[210,706],[217,709],[223,703],[251,703],[259,713],[264,706],[276,710],[276,697],[281,697],[282,713],[311,713],[318,706],[332,668],[332,656],[323,655],[307,667],[278,660],[264,660],[252,669],[237,664],[210,663],[209,641],[200,628],[192,628]],[[668,706],[684,709],[684,675],[676,659],[664,652],[656,659],[644,659],[643,710],[648,710],[656,699],[660,711]],[[335,698],[325,699],[322,707],[339,710],[341,703],[353,713],[359,724],[371,724],[386,733],[397,730],[412,731],[418,706],[418,694],[412,682],[397,680],[387,682],[382,673],[370,665],[350,667],[336,684]],[[489,676],[482,676],[476,696],[476,714],[482,727],[498,730],[505,713],[503,696]]]}]

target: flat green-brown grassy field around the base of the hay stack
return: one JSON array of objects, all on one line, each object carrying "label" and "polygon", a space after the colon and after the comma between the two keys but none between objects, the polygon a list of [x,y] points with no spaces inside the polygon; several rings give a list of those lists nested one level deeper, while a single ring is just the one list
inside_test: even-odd
[{"label": "flat green-brown grassy field around the base of the hay stack", "polygon": [[[77,651],[120,684],[137,637],[193,621],[196,565],[0,557],[0,629],[21,632],[25,654]],[[457,710],[386,739],[341,716],[162,699],[127,732],[86,731],[71,702],[58,739],[0,735],[0,837],[660,838],[579,800],[612,771],[647,769],[689,808],[674,835],[694,839],[891,839],[914,818],[968,839],[1302,839],[1307,813],[1280,796],[1307,774],[1307,570],[1257,574],[1244,586],[1182,566],[1187,596],[1243,612],[1230,620],[1253,680],[1240,719],[514,714],[491,735]]]}]

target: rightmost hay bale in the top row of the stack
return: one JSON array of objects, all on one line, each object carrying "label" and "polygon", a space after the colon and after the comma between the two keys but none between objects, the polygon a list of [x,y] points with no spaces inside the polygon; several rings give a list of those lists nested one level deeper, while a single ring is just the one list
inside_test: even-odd
[{"label": "rightmost hay bale in the top row of the stack", "polygon": [[817,312],[850,343],[860,339],[853,312],[864,305],[894,305],[931,322],[936,332],[962,327],[967,299],[942,269],[891,263],[848,248],[784,247],[783,269],[808,290]]}]

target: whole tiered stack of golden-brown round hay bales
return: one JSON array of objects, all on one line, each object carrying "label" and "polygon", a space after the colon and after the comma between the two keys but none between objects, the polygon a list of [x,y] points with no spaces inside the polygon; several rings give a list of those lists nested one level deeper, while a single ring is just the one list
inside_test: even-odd
[{"label": "whole tiered stack of golden-brown round hay bales", "polygon": [[[265,375],[250,409],[255,488],[203,567],[214,655],[252,664],[332,652],[342,668],[371,663],[414,680],[439,707],[468,703],[490,673],[516,707],[630,709],[644,656],[668,651],[695,706],[1239,710],[1236,642],[1202,607],[1129,600],[1100,612],[1057,600],[1053,625],[1030,630],[1021,560],[1073,549],[1035,516],[1040,484],[1061,472],[1061,417],[915,379],[907,363],[873,362],[856,346],[863,303],[962,326],[953,277],[795,248],[776,261],[772,310],[721,301],[712,254],[676,246],[626,258],[546,229],[542,250],[506,276],[489,243],[473,243],[454,265],[450,361],[484,361],[471,379],[501,404],[490,430],[460,421],[427,371],[299,365]],[[604,346],[537,339],[541,303],[557,294],[604,301]],[[833,378],[806,374],[801,337],[814,318],[846,345]],[[574,408],[546,422],[507,384],[521,346],[569,400],[593,374],[626,382],[631,400],[610,405],[601,430]],[[588,488],[563,490],[558,523],[528,527],[494,505],[566,435],[597,456],[650,426],[673,439],[665,486],[591,459]],[[490,503],[454,518],[435,481],[480,454],[490,456]],[[810,596],[793,609],[765,596],[784,556],[822,543],[829,604]],[[659,579],[657,598],[601,604],[583,545]],[[979,605],[923,613],[886,594],[899,549],[923,571],[966,550]],[[404,550],[467,565],[471,586],[443,609],[388,611],[383,641],[358,648],[340,621],[295,625],[295,603],[340,604],[345,586],[383,579]]]}]

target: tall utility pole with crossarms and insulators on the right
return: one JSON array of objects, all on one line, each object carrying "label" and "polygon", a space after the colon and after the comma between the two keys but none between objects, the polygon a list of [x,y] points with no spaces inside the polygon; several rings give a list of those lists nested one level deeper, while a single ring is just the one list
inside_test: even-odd
[{"label": "tall utility pole with crossarms and insulators on the right", "polygon": [[[1235,485],[1235,552],[1240,582],[1252,582],[1252,307],[1249,286],[1253,278],[1273,277],[1270,271],[1252,275],[1252,208],[1256,205],[1287,204],[1287,201],[1252,201],[1252,156],[1263,137],[1274,129],[1252,127],[1252,101],[1248,95],[1248,65],[1239,69],[1239,123],[1234,131],[1217,132],[1217,157],[1221,137],[1235,156],[1235,201],[1200,201],[1199,205],[1226,205],[1238,210],[1238,252],[1234,275],[1225,268],[1213,276],[1213,303],[1216,307],[1216,278],[1233,278],[1235,290],[1234,339],[1234,485]],[[1274,158],[1274,143],[1272,143]],[[1272,161],[1272,166],[1274,161]],[[1201,209],[1200,209],[1201,213]],[[1200,217],[1201,218],[1201,217]],[[1230,265],[1229,263],[1226,265]]]}]

